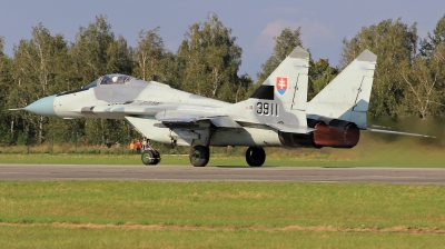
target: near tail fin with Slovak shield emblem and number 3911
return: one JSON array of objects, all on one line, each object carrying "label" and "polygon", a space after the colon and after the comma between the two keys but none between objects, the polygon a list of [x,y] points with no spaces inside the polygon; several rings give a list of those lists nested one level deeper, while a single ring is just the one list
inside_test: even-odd
[{"label": "near tail fin with Slovak shield emblem and number 3911", "polygon": [[309,52],[297,47],[248,100],[227,110],[237,121],[306,133],[308,70]]}]

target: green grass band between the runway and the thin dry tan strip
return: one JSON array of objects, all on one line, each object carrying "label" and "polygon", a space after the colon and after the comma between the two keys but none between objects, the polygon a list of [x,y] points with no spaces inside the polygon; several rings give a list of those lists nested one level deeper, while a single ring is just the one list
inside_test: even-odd
[{"label": "green grass band between the runway and the thin dry tan strip", "polygon": [[1,181],[0,221],[445,229],[445,186]]}]

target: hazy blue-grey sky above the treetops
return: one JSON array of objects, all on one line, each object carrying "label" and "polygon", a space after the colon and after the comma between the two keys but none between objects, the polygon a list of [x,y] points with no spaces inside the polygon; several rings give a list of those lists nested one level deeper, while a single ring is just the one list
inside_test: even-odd
[{"label": "hazy blue-grey sky above the treetops", "polygon": [[131,47],[138,33],[160,27],[167,49],[176,52],[190,24],[205,22],[209,12],[219,20],[243,48],[239,74],[256,79],[273,52],[274,37],[283,29],[301,27],[303,47],[312,58],[329,59],[339,64],[343,39],[350,39],[362,27],[387,19],[412,26],[425,38],[445,14],[444,0],[0,0],[0,36],[3,52],[13,54],[13,46],[30,39],[32,27],[40,22],[51,34],[62,33],[75,41],[80,27],[107,16],[116,36],[122,34]]}]

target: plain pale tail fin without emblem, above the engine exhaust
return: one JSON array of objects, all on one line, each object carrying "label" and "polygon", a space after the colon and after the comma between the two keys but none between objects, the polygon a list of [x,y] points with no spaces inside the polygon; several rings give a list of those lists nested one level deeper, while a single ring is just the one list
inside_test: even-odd
[{"label": "plain pale tail fin without emblem, above the engine exhaust", "polygon": [[308,118],[327,122],[340,119],[365,129],[376,63],[376,54],[363,51],[308,102]]}]

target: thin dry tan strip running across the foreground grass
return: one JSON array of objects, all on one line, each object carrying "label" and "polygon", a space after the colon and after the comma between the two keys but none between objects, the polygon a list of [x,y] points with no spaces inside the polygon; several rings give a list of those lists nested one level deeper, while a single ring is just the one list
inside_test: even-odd
[{"label": "thin dry tan strip running across the foreground grass", "polygon": [[287,227],[234,227],[234,226],[218,226],[218,227],[199,227],[199,226],[178,226],[178,225],[100,225],[100,223],[65,223],[65,222],[52,222],[52,223],[13,223],[13,222],[0,222],[0,226],[7,227],[44,227],[51,226],[56,228],[89,228],[89,229],[147,229],[147,230],[259,230],[259,231],[333,231],[333,232],[399,232],[399,233],[445,233],[445,229],[439,228],[412,228],[412,227],[389,227],[389,228],[342,228],[334,226],[287,226]]}]

